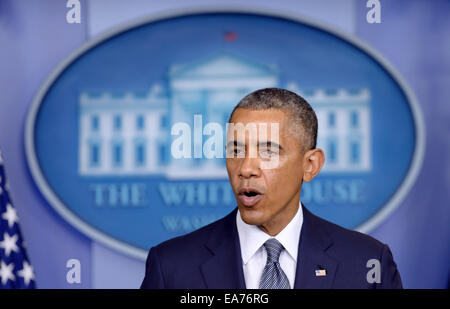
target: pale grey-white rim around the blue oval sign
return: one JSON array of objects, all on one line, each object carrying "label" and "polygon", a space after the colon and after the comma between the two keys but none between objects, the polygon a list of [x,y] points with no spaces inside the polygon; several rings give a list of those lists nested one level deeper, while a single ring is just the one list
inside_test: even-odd
[{"label": "pale grey-white rim around the blue oval sign", "polygon": [[397,189],[396,193],[391,197],[391,199],[369,220],[361,224],[356,228],[356,230],[368,233],[375,226],[381,223],[392,211],[403,201],[403,199],[408,194],[412,185],[414,184],[424,158],[425,153],[425,124],[422,116],[422,112],[420,109],[420,105],[415,97],[414,93],[407,85],[402,76],[397,72],[397,70],[376,50],[367,45],[366,43],[360,41],[359,39],[350,36],[346,33],[337,31],[334,28],[319,24],[315,21],[312,21],[308,18],[299,17],[294,14],[274,11],[272,9],[261,9],[254,7],[243,7],[243,6],[199,6],[191,9],[182,9],[182,10],[170,10],[169,12],[155,14],[150,17],[145,17],[139,19],[135,22],[127,23],[122,26],[118,26],[113,28],[112,30],[105,32],[99,36],[96,36],[92,40],[86,42],[75,51],[73,51],[67,58],[65,58],[47,77],[45,82],[42,84],[38,93],[33,99],[31,104],[25,127],[25,150],[26,150],[26,158],[28,161],[29,168],[31,170],[31,174],[46,200],[50,203],[51,206],[56,210],[56,212],[61,215],[66,221],[68,221],[71,225],[73,225],[76,229],[80,230],[88,237],[99,241],[113,249],[116,249],[119,252],[132,256],[134,258],[138,258],[141,260],[145,260],[147,257],[147,251],[142,250],[140,248],[131,246],[123,241],[117,240],[103,232],[100,232],[93,226],[87,224],[83,220],[81,220],[78,216],[72,213],[67,206],[58,198],[58,196],[52,191],[50,186],[48,185],[46,179],[43,176],[39,163],[37,161],[37,156],[35,152],[35,144],[34,144],[34,126],[36,121],[36,116],[39,112],[40,104],[42,99],[46,95],[47,91],[51,87],[51,85],[56,81],[56,79],[64,72],[64,70],[70,66],[70,64],[75,61],[78,57],[83,55],[85,52],[95,47],[96,45],[101,44],[102,42],[128,30],[131,30],[135,27],[143,26],[145,24],[167,19],[174,17],[187,16],[192,14],[208,14],[208,13],[243,13],[243,14],[256,14],[263,15],[267,17],[276,17],[283,18],[287,20],[291,20],[294,22],[302,23],[306,26],[316,28],[318,30],[322,30],[324,32],[335,35],[336,37],[351,43],[352,45],[358,47],[363,52],[371,56],[373,59],[378,61],[378,63],[394,78],[394,80],[399,84],[399,86],[404,91],[404,94],[410,103],[414,122],[415,122],[415,134],[416,134],[416,145],[414,149],[414,156],[409,168],[409,171],[403,180],[402,184]]}]

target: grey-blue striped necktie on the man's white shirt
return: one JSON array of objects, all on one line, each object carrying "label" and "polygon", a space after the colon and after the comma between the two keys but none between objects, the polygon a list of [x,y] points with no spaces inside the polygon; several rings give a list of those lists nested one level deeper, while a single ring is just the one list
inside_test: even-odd
[{"label": "grey-blue striped necktie on the man's white shirt", "polygon": [[259,288],[290,289],[289,280],[278,261],[281,251],[284,250],[283,245],[275,238],[271,238],[264,243],[264,248],[267,251],[267,263],[259,282]]}]

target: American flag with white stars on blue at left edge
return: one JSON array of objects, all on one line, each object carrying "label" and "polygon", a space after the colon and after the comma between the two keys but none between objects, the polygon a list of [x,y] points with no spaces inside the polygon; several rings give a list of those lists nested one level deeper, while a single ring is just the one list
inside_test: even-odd
[{"label": "American flag with white stars on blue at left edge", "polygon": [[0,289],[34,289],[34,271],[25,251],[19,218],[11,203],[0,153]]}]

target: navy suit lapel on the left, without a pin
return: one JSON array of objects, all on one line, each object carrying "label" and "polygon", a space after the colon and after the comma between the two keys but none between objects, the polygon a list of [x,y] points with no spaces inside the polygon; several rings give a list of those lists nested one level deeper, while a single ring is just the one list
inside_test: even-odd
[{"label": "navy suit lapel on the left, without a pin", "polygon": [[200,268],[208,289],[245,289],[236,213],[237,208],[214,228],[206,243],[211,257]]}]

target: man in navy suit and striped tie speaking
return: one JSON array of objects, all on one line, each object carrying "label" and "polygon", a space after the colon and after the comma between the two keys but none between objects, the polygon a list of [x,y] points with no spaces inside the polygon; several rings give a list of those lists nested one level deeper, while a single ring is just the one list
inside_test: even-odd
[{"label": "man in navy suit and striped tie speaking", "polygon": [[303,181],[325,162],[317,117],[302,97],[257,90],[229,122],[226,166],[237,208],[151,248],[141,288],[402,288],[387,245],[301,204]]}]

